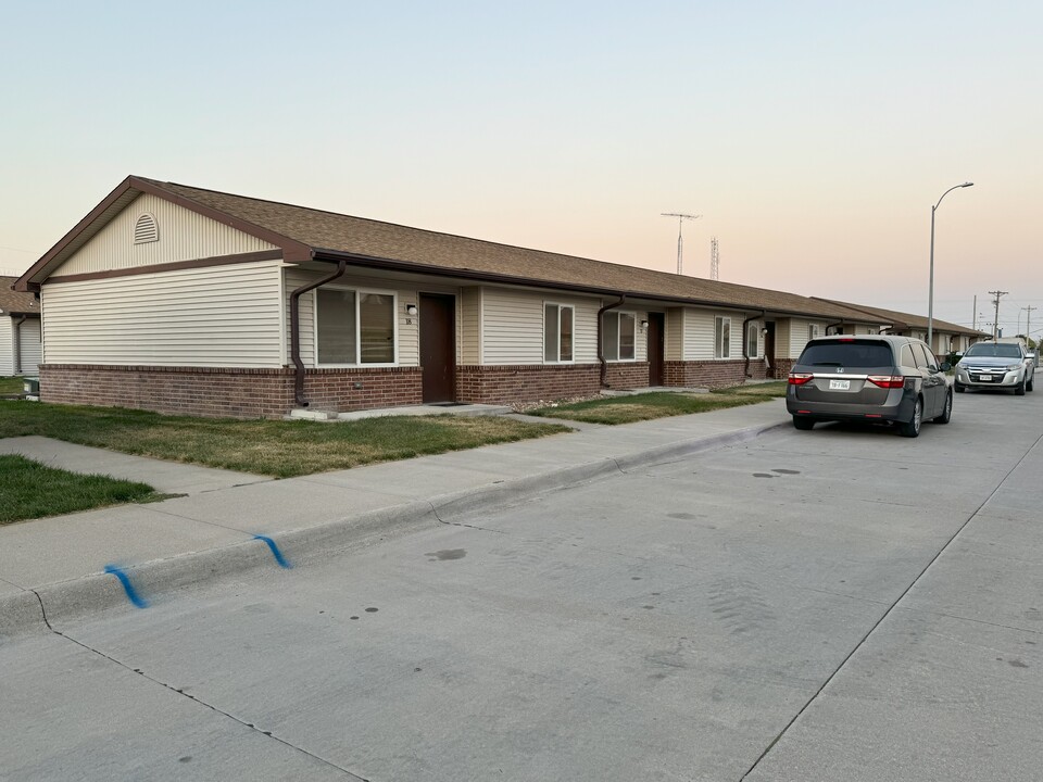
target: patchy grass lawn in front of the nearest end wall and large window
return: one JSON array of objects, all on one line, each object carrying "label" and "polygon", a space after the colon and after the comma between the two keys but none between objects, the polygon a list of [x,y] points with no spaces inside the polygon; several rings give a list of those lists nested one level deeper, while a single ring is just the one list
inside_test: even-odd
[{"label": "patchy grass lawn in front of the nearest end wall and large window", "polygon": [[41,434],[123,453],[290,478],[569,431],[494,416],[238,420],[0,400],[0,438]]}]

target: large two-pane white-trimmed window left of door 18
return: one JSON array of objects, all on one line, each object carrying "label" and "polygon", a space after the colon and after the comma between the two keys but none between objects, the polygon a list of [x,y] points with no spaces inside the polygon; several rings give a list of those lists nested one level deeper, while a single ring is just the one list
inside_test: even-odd
[{"label": "large two-pane white-trimmed window left of door 18", "polygon": [[315,291],[315,344],[319,365],[394,364],[395,294],[319,288]]}]

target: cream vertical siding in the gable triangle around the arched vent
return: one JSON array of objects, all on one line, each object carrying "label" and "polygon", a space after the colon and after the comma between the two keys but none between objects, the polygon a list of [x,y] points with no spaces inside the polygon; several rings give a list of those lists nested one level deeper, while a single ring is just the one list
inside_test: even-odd
[{"label": "cream vertical siding in the gable triangle around the arched vent", "polygon": [[[134,226],[143,213],[155,217],[160,238],[159,241],[135,244]],[[165,199],[143,194],[53,274],[63,276],[109,272],[275,249],[274,244]]]}]

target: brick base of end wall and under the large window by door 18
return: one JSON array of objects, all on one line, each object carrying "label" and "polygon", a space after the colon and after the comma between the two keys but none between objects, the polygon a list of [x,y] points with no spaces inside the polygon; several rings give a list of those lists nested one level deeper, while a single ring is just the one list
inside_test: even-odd
[{"label": "brick base of end wall and under the large window by door 18", "polygon": [[[294,371],[212,367],[40,366],[40,400],[231,418],[281,418],[293,409]],[[361,388],[355,388],[361,384]],[[420,403],[417,367],[310,369],[309,407],[336,412]]]}]

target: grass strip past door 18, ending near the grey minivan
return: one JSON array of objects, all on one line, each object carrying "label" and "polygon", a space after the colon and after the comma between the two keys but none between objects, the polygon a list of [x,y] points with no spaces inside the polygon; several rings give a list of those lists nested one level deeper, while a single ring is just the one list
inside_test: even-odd
[{"label": "grass strip past door 18, ending near the grey minivan", "polygon": [[653,392],[633,396],[605,396],[557,407],[541,407],[531,411],[530,415],[588,424],[633,424],[667,416],[740,407],[784,395],[786,382],[780,381],[717,389],[712,393]]}]

